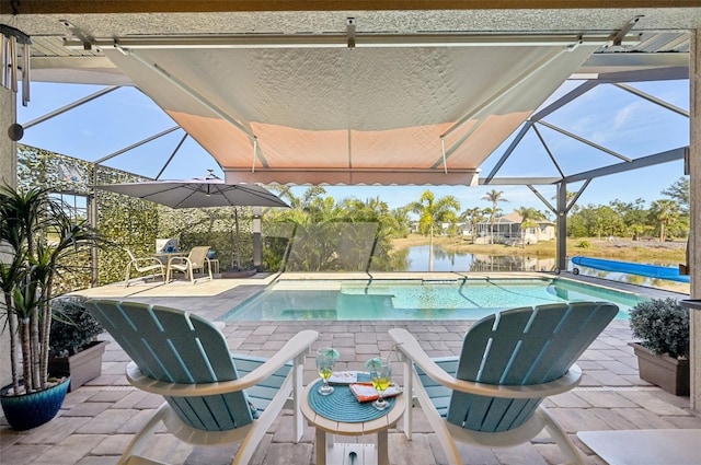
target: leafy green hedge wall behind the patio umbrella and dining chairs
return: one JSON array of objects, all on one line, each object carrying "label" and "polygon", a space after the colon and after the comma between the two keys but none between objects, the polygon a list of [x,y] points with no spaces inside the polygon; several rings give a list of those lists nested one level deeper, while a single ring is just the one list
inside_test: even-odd
[{"label": "leafy green hedge wall behind the patio umbrella and dining chairs", "polygon": [[[125,247],[137,256],[156,252],[158,237],[177,237],[180,248],[210,245],[222,270],[253,266],[252,210],[244,207],[173,210],[134,197],[96,189],[93,184],[147,181],[133,173],[97,166],[93,163],[20,144],[18,185],[48,186],[58,194],[95,195],[96,228],[106,240],[97,253],[97,284],[124,279],[127,264]],[[91,257],[85,256],[79,276],[67,277],[68,290],[84,289],[91,283]]]}]

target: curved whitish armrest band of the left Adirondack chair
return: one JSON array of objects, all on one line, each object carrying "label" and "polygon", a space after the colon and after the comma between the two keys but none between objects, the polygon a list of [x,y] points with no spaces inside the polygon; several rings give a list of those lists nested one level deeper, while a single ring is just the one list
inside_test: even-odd
[{"label": "curved whitish armrest band of the left Adirondack chair", "polygon": [[147,376],[135,362],[130,362],[127,365],[126,376],[133,386],[147,393],[162,396],[199,397],[243,391],[265,381],[289,360],[309,351],[309,348],[318,338],[319,333],[315,330],[306,329],[299,332],[277,353],[239,380],[218,383],[169,383]]}]

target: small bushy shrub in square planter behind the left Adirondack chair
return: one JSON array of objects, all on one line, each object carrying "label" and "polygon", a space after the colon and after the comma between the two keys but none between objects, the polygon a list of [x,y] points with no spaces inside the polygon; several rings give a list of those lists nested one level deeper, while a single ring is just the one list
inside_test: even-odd
[{"label": "small bushy shrub in square planter behind the left Adirondack chair", "polygon": [[51,302],[51,350],[49,373],[67,372],[73,391],[102,373],[106,340],[95,340],[104,332],[83,306],[84,298],[67,297]]}]

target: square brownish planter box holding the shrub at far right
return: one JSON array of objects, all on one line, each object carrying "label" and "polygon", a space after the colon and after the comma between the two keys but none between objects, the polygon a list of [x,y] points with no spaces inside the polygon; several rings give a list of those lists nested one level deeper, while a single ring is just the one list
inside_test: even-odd
[{"label": "square brownish planter box holding the shrub at far right", "polygon": [[677,396],[689,395],[689,360],[656,356],[636,342],[630,342],[637,357],[641,380],[653,383]]}]

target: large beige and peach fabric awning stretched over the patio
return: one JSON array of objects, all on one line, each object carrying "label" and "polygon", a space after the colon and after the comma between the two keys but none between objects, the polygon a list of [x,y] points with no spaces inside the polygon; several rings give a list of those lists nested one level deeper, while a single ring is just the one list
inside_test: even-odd
[{"label": "large beige and peach fabric awning stretched over the patio", "polygon": [[104,53],[228,183],[474,185],[480,164],[596,47]]}]

